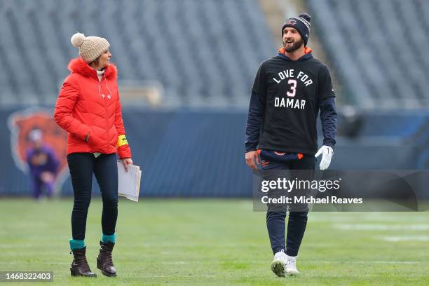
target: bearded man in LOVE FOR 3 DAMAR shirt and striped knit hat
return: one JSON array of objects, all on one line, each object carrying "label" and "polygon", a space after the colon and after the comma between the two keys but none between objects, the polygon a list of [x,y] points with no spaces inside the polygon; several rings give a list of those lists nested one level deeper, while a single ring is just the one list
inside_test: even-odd
[{"label": "bearded man in LOVE FOR 3 DAMAR shirt and striped knit hat", "polygon": [[[320,170],[329,167],[336,140],[335,94],[329,70],[307,47],[311,16],[301,13],[282,26],[281,48],[259,66],[246,123],[245,159],[257,170]],[[323,145],[318,150],[316,119],[320,110]],[[260,158],[259,158],[260,156]],[[297,275],[296,261],[307,224],[307,211],[286,212],[268,207],[266,225],[278,276]]]}]

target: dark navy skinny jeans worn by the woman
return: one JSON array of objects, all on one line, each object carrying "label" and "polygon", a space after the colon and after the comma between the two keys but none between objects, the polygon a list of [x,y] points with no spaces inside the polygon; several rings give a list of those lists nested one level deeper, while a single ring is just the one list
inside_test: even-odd
[{"label": "dark navy skinny jeans worn by the woman", "polygon": [[84,240],[86,216],[91,200],[93,173],[97,179],[103,199],[102,231],[106,235],[115,233],[118,218],[118,165],[116,154],[73,153],[67,156],[71,184],[73,184],[74,205],[71,212],[71,233],[73,239]]}]

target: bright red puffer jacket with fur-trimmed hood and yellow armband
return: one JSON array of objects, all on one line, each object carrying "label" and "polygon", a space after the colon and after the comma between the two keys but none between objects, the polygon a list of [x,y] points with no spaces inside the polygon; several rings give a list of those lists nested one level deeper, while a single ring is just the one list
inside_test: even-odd
[{"label": "bright red puffer jacket with fur-trimmed hood and yellow armband", "polygon": [[62,84],[54,111],[55,122],[68,132],[67,155],[117,151],[120,158],[131,158],[114,64],[104,70],[101,81],[97,71],[80,57],[71,60],[68,68],[71,74]]}]

